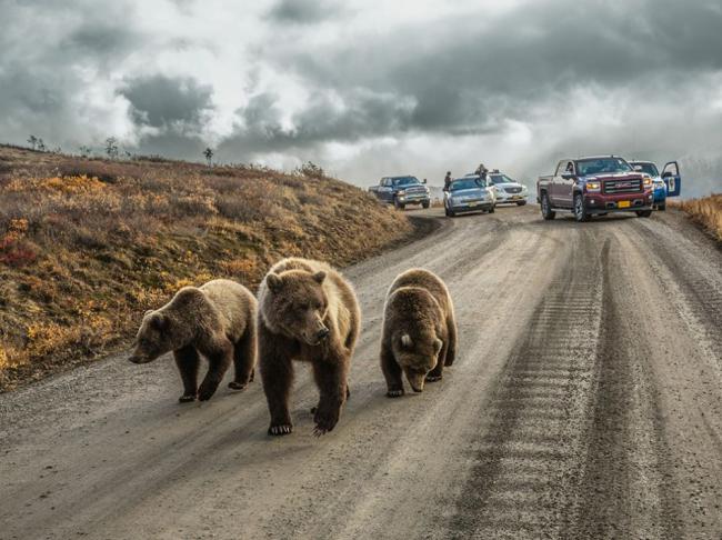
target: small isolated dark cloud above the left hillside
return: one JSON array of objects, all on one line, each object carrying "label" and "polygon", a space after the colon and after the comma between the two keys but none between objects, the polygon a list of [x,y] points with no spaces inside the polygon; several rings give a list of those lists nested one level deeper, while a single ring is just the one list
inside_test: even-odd
[{"label": "small isolated dark cloud above the left hillside", "polygon": [[152,76],[127,82],[120,94],[133,107],[138,123],[163,128],[199,128],[212,110],[212,87],[191,78]]}]

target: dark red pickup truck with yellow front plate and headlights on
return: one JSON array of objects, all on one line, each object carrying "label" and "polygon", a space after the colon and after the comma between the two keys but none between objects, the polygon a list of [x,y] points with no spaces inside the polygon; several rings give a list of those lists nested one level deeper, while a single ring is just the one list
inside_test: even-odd
[{"label": "dark red pickup truck with yellow front plate and headlights on", "polygon": [[652,214],[652,180],[616,156],[563,159],[553,176],[539,177],[537,201],[544,219],[558,210],[571,211],[576,221],[609,212]]}]

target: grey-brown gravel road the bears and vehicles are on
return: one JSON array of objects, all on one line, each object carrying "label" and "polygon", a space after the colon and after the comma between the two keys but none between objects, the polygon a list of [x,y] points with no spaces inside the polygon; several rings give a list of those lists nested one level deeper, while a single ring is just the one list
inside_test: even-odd
[{"label": "grey-brown gravel road the bears and vehicles are on", "polygon": [[[170,358],[124,356],[0,396],[0,538],[722,538],[722,251],[676,212],[439,220],[345,270],[351,399],[269,438],[261,384],[179,404]],[[384,293],[449,284],[444,379],[384,397]]]}]

